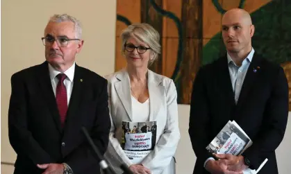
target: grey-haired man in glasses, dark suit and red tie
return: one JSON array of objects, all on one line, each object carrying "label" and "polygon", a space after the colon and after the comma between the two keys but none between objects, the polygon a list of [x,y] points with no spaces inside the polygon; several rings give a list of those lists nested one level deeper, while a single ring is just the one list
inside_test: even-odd
[{"label": "grey-haired man in glasses, dark suit and red tie", "polygon": [[100,173],[83,132],[103,154],[110,116],[107,80],[75,64],[83,46],[79,21],[54,15],[42,38],[46,61],[13,74],[8,113],[18,173]]}]

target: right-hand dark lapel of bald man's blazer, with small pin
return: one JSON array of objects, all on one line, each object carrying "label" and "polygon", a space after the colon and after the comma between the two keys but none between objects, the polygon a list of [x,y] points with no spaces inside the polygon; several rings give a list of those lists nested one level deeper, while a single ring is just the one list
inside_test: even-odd
[{"label": "right-hand dark lapel of bald man's blazer, with small pin", "polygon": [[244,78],[244,82],[242,84],[242,89],[240,91],[240,97],[238,98],[238,107],[240,107],[245,99],[247,98],[251,87],[254,84],[254,80],[256,80],[258,74],[260,73],[260,61],[261,58],[254,53],[253,59],[251,60],[251,64],[249,64],[249,69],[247,69],[247,74]]}]

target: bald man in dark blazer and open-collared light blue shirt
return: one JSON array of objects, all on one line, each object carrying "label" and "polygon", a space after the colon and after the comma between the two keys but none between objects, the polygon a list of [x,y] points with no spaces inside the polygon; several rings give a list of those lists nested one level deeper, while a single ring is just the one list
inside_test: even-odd
[{"label": "bald man in dark blazer and open-collared light blue shirt", "polygon": [[[222,18],[227,55],[199,69],[194,80],[189,134],[197,156],[195,174],[241,173],[257,169],[276,174],[275,150],[288,119],[288,82],[283,69],[255,53],[251,46],[254,26],[249,13],[232,9]],[[234,120],[253,144],[242,155],[216,155],[206,146],[228,120]]]}]

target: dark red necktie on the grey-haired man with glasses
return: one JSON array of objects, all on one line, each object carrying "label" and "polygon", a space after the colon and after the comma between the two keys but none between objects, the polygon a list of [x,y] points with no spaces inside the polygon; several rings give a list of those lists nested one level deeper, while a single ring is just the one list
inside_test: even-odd
[{"label": "dark red necktie on the grey-haired man with glasses", "polygon": [[62,123],[63,127],[67,115],[67,89],[64,85],[64,80],[67,76],[65,73],[59,73],[57,78],[58,86],[56,87],[56,103],[60,114],[60,123]]}]

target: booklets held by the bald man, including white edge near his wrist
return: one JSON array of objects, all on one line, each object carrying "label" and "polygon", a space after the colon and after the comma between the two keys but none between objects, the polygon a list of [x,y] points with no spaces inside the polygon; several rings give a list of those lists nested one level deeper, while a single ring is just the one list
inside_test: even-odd
[{"label": "booklets held by the bald man, including white edge near his wrist", "polygon": [[[228,121],[224,128],[217,134],[217,136],[210,142],[206,147],[209,153],[217,154],[232,154],[232,155],[241,155],[244,150],[249,148],[253,141],[249,136],[240,128],[240,125],[235,121]],[[257,170],[251,170],[247,168],[244,170],[244,174],[253,174],[258,173],[260,168],[262,168],[267,159],[260,165]]]}]

